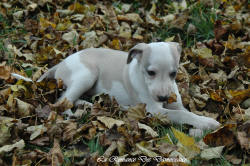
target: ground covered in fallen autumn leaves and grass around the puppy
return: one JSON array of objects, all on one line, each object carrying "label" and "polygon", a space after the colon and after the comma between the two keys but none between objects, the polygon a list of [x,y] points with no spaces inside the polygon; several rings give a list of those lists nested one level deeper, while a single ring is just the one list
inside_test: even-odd
[{"label": "ground covered in fallen autumn leaves and grass around the puppy", "polygon": [[[3,0],[0,165],[249,165],[249,8],[247,0]],[[93,105],[55,103],[63,82],[35,82],[78,50],[153,41],[182,44],[183,104],[219,129],[173,125],[145,104],[125,109],[106,94],[83,96]]]}]

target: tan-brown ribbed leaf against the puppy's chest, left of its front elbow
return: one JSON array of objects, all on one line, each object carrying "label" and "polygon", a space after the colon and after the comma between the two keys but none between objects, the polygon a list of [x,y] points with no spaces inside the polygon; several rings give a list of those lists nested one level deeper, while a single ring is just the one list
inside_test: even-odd
[{"label": "tan-brown ribbed leaf against the puppy's chest, left of its front elbow", "polygon": [[129,107],[127,117],[129,120],[140,120],[146,118],[146,104],[137,104]]}]

